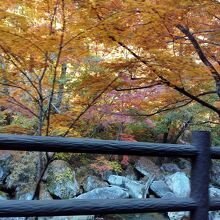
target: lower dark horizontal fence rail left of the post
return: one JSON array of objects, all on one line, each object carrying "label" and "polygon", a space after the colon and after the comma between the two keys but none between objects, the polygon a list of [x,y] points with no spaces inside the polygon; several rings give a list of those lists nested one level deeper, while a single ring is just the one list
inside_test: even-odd
[{"label": "lower dark horizontal fence rail left of the post", "polygon": [[191,211],[190,198],[173,199],[93,199],[0,201],[0,217],[70,216],[95,214]]}]

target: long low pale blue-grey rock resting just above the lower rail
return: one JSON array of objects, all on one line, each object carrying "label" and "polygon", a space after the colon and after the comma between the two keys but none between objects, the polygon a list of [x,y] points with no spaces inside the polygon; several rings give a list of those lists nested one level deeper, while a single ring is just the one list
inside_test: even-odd
[{"label": "long low pale blue-grey rock resting just above the lower rail", "polygon": [[90,192],[84,193],[77,199],[125,199],[129,194],[118,186],[97,188]]}]

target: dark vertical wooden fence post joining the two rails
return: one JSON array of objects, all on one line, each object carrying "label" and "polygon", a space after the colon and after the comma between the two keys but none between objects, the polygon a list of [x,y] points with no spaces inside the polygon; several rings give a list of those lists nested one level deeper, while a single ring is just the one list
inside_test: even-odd
[{"label": "dark vertical wooden fence post joining the two rails", "polygon": [[198,150],[198,155],[192,160],[191,171],[191,197],[197,203],[197,208],[191,212],[192,220],[208,220],[210,136],[208,131],[192,133],[192,145]]}]

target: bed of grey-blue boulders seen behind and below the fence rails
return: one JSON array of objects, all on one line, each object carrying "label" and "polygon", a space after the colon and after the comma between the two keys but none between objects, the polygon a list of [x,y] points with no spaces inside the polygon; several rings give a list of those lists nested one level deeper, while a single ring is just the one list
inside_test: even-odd
[{"label": "bed of grey-blue boulders seen behind and below the fence rails", "polygon": [[[190,162],[169,162],[156,158],[136,158],[122,173],[111,171],[97,175],[85,167],[74,167],[64,160],[54,160],[40,185],[40,199],[119,199],[171,198],[190,195]],[[37,153],[26,153],[19,160],[14,155],[0,155],[0,200],[30,200],[37,181]],[[213,162],[210,175],[210,197],[220,197],[220,163]],[[125,214],[105,216],[40,217],[40,220],[181,220],[188,212]],[[3,219],[3,218],[2,218]],[[24,218],[7,218],[22,220]],[[210,212],[210,220],[219,220],[218,212]]]}]

